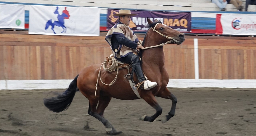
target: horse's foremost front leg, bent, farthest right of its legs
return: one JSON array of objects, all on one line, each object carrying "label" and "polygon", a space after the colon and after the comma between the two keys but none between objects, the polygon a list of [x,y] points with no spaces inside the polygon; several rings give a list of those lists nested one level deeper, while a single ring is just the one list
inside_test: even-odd
[{"label": "horse's foremost front leg, bent, farthest right of its legs", "polygon": [[165,88],[160,94],[156,95],[157,97],[162,97],[166,99],[171,99],[172,100],[172,107],[171,111],[168,113],[168,115],[165,115],[162,119],[162,123],[165,123],[168,121],[171,117],[174,116],[175,114],[175,109],[176,109],[176,104],[177,104],[177,98],[174,96],[167,88]]}]

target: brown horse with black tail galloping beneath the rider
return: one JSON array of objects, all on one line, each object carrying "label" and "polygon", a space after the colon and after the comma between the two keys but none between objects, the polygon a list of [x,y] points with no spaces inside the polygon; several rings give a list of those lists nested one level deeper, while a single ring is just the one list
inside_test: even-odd
[{"label": "brown horse with black tail galloping beneath the rider", "polygon": [[[170,41],[170,39],[173,39],[171,43],[176,44],[181,44],[185,40],[183,33],[163,25],[160,21],[155,20],[153,23],[148,18],[147,21],[150,28],[145,35],[143,47],[151,47],[166,43]],[[174,116],[177,99],[166,87],[169,81],[169,76],[164,65],[165,57],[163,54],[163,47],[158,46],[149,48],[142,50],[141,52],[142,69],[150,81],[157,82],[157,86],[147,91],[140,88],[138,89],[140,97],[156,109],[154,115],[143,115],[140,120],[153,122],[162,113],[162,108],[155,99],[155,96],[157,96],[172,100],[170,112],[162,119],[162,123],[165,123]],[[100,64],[97,64],[84,68],[70,83],[69,88],[65,92],[59,94],[57,97],[44,99],[44,105],[50,109],[50,111],[61,112],[70,106],[75,92],[80,90],[80,92],[89,100],[88,114],[101,121],[105,125],[108,133],[115,135],[120,133],[120,131],[117,131],[103,116],[104,110],[108,106],[111,98],[113,97],[121,100],[134,100],[139,98],[134,94],[128,80],[124,78],[124,75],[128,72],[127,69],[119,70],[116,82],[112,86],[107,86],[102,82],[98,82],[95,94],[95,85],[100,66]],[[104,83],[110,83],[116,76],[116,72],[107,72],[103,69],[101,69],[100,72],[101,79]],[[136,81],[135,76],[134,80]]]}]

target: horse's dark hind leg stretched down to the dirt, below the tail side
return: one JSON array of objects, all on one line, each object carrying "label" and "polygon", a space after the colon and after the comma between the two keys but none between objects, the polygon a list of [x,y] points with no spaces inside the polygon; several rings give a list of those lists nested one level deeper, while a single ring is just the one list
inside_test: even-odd
[{"label": "horse's dark hind leg stretched down to the dirt, below the tail side", "polygon": [[97,99],[97,98],[96,99],[94,99],[94,98],[90,98],[89,99],[90,105],[89,105],[88,114],[90,114],[91,116],[93,116],[96,119],[98,119],[106,127],[106,132],[108,132],[110,134],[120,133],[120,132],[117,132],[115,129],[113,129],[113,126],[109,123],[108,120],[106,120],[104,117],[100,116],[96,112],[96,106],[98,104],[98,100],[99,99]]}]

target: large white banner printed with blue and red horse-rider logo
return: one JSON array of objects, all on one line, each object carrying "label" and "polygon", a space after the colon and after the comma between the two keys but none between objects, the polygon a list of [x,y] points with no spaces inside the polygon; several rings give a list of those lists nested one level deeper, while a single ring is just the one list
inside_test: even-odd
[{"label": "large white banner printed with blue and red horse-rider logo", "polygon": [[100,8],[29,5],[29,34],[100,35]]}]

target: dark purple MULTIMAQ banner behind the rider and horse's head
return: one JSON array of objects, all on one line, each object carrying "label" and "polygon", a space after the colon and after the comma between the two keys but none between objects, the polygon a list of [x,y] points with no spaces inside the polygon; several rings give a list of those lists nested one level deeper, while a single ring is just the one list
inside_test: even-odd
[{"label": "dark purple MULTIMAQ banner behind the rider and horse's head", "polygon": [[[118,16],[113,14],[119,10],[108,9],[107,14],[107,29],[110,29],[116,24]],[[160,20],[163,24],[182,32],[191,32],[191,12],[163,12],[163,11],[139,11],[131,10],[132,14],[137,14],[131,17],[129,27],[135,31],[147,31],[147,18],[151,21]]]}]

